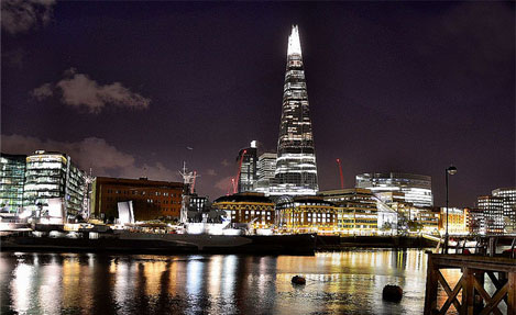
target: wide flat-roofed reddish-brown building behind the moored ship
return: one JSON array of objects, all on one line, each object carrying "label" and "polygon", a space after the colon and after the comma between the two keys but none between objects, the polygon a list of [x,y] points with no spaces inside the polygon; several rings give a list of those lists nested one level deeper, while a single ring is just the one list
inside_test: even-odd
[{"label": "wide flat-roofed reddish-brown building behind the moored ship", "polygon": [[92,184],[91,214],[111,221],[118,215],[119,202],[132,201],[138,221],[176,220],[182,207],[183,188],[182,182],[97,177]]}]

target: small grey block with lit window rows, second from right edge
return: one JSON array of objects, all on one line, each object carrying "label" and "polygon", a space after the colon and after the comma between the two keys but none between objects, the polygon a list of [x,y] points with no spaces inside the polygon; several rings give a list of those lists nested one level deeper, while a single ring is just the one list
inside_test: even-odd
[{"label": "small grey block with lit window rows, second from right edge", "polygon": [[477,206],[484,212],[485,234],[504,233],[504,198],[481,195]]}]

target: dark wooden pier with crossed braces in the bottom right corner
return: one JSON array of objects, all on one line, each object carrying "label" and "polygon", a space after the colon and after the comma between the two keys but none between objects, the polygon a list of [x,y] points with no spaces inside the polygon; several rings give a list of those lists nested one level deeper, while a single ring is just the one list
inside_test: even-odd
[{"label": "dark wooden pier with crossed braces in the bottom right corner", "polygon": [[[498,306],[505,303],[507,315],[516,315],[516,259],[476,255],[428,254],[425,315],[447,314],[452,307],[461,315],[504,314]],[[462,277],[451,288],[442,269],[461,269]],[[493,295],[485,290],[486,281],[496,288]],[[448,299],[439,308],[439,283]],[[462,299],[458,295],[462,292]]]}]

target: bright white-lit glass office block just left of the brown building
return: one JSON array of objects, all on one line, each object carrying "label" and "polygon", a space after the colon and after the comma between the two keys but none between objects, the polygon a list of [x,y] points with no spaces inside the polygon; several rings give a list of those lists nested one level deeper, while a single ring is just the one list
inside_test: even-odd
[{"label": "bright white-lit glass office block just left of the brown building", "polygon": [[68,218],[83,212],[86,175],[69,156],[37,150],[26,157],[23,205],[36,211],[48,206],[50,199],[62,199]]}]

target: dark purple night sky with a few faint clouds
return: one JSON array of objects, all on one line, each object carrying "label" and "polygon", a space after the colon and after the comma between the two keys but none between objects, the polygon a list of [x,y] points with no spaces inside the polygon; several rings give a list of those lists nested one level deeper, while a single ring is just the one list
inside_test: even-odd
[{"label": "dark purple night sky with a few faint clouds", "polygon": [[[62,150],[96,176],[215,199],[253,139],[275,150],[299,25],[320,189],[432,177],[436,204],[515,185],[514,2],[2,0],[1,149]],[[191,148],[191,149],[190,149]]]}]

